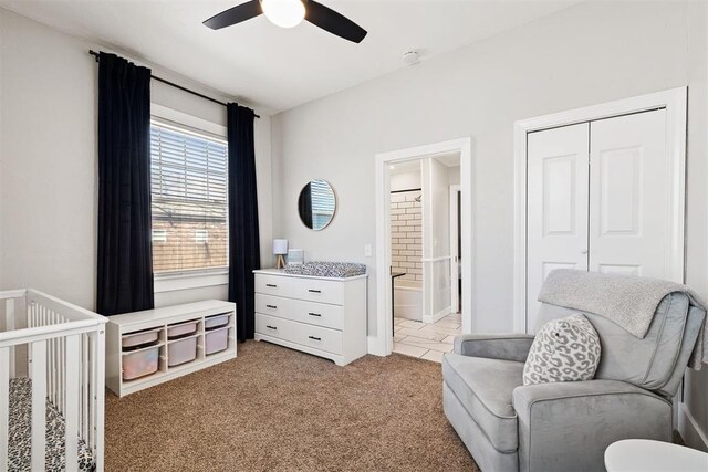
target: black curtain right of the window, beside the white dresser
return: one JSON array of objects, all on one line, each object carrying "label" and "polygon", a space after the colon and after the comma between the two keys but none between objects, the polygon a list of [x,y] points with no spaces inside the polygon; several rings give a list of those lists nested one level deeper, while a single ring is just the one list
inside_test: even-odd
[{"label": "black curtain right of the window, beside the white dresser", "polygon": [[251,108],[227,105],[229,140],[229,301],[236,303],[239,340],[253,338],[254,277],[260,269],[256,151]]}]

